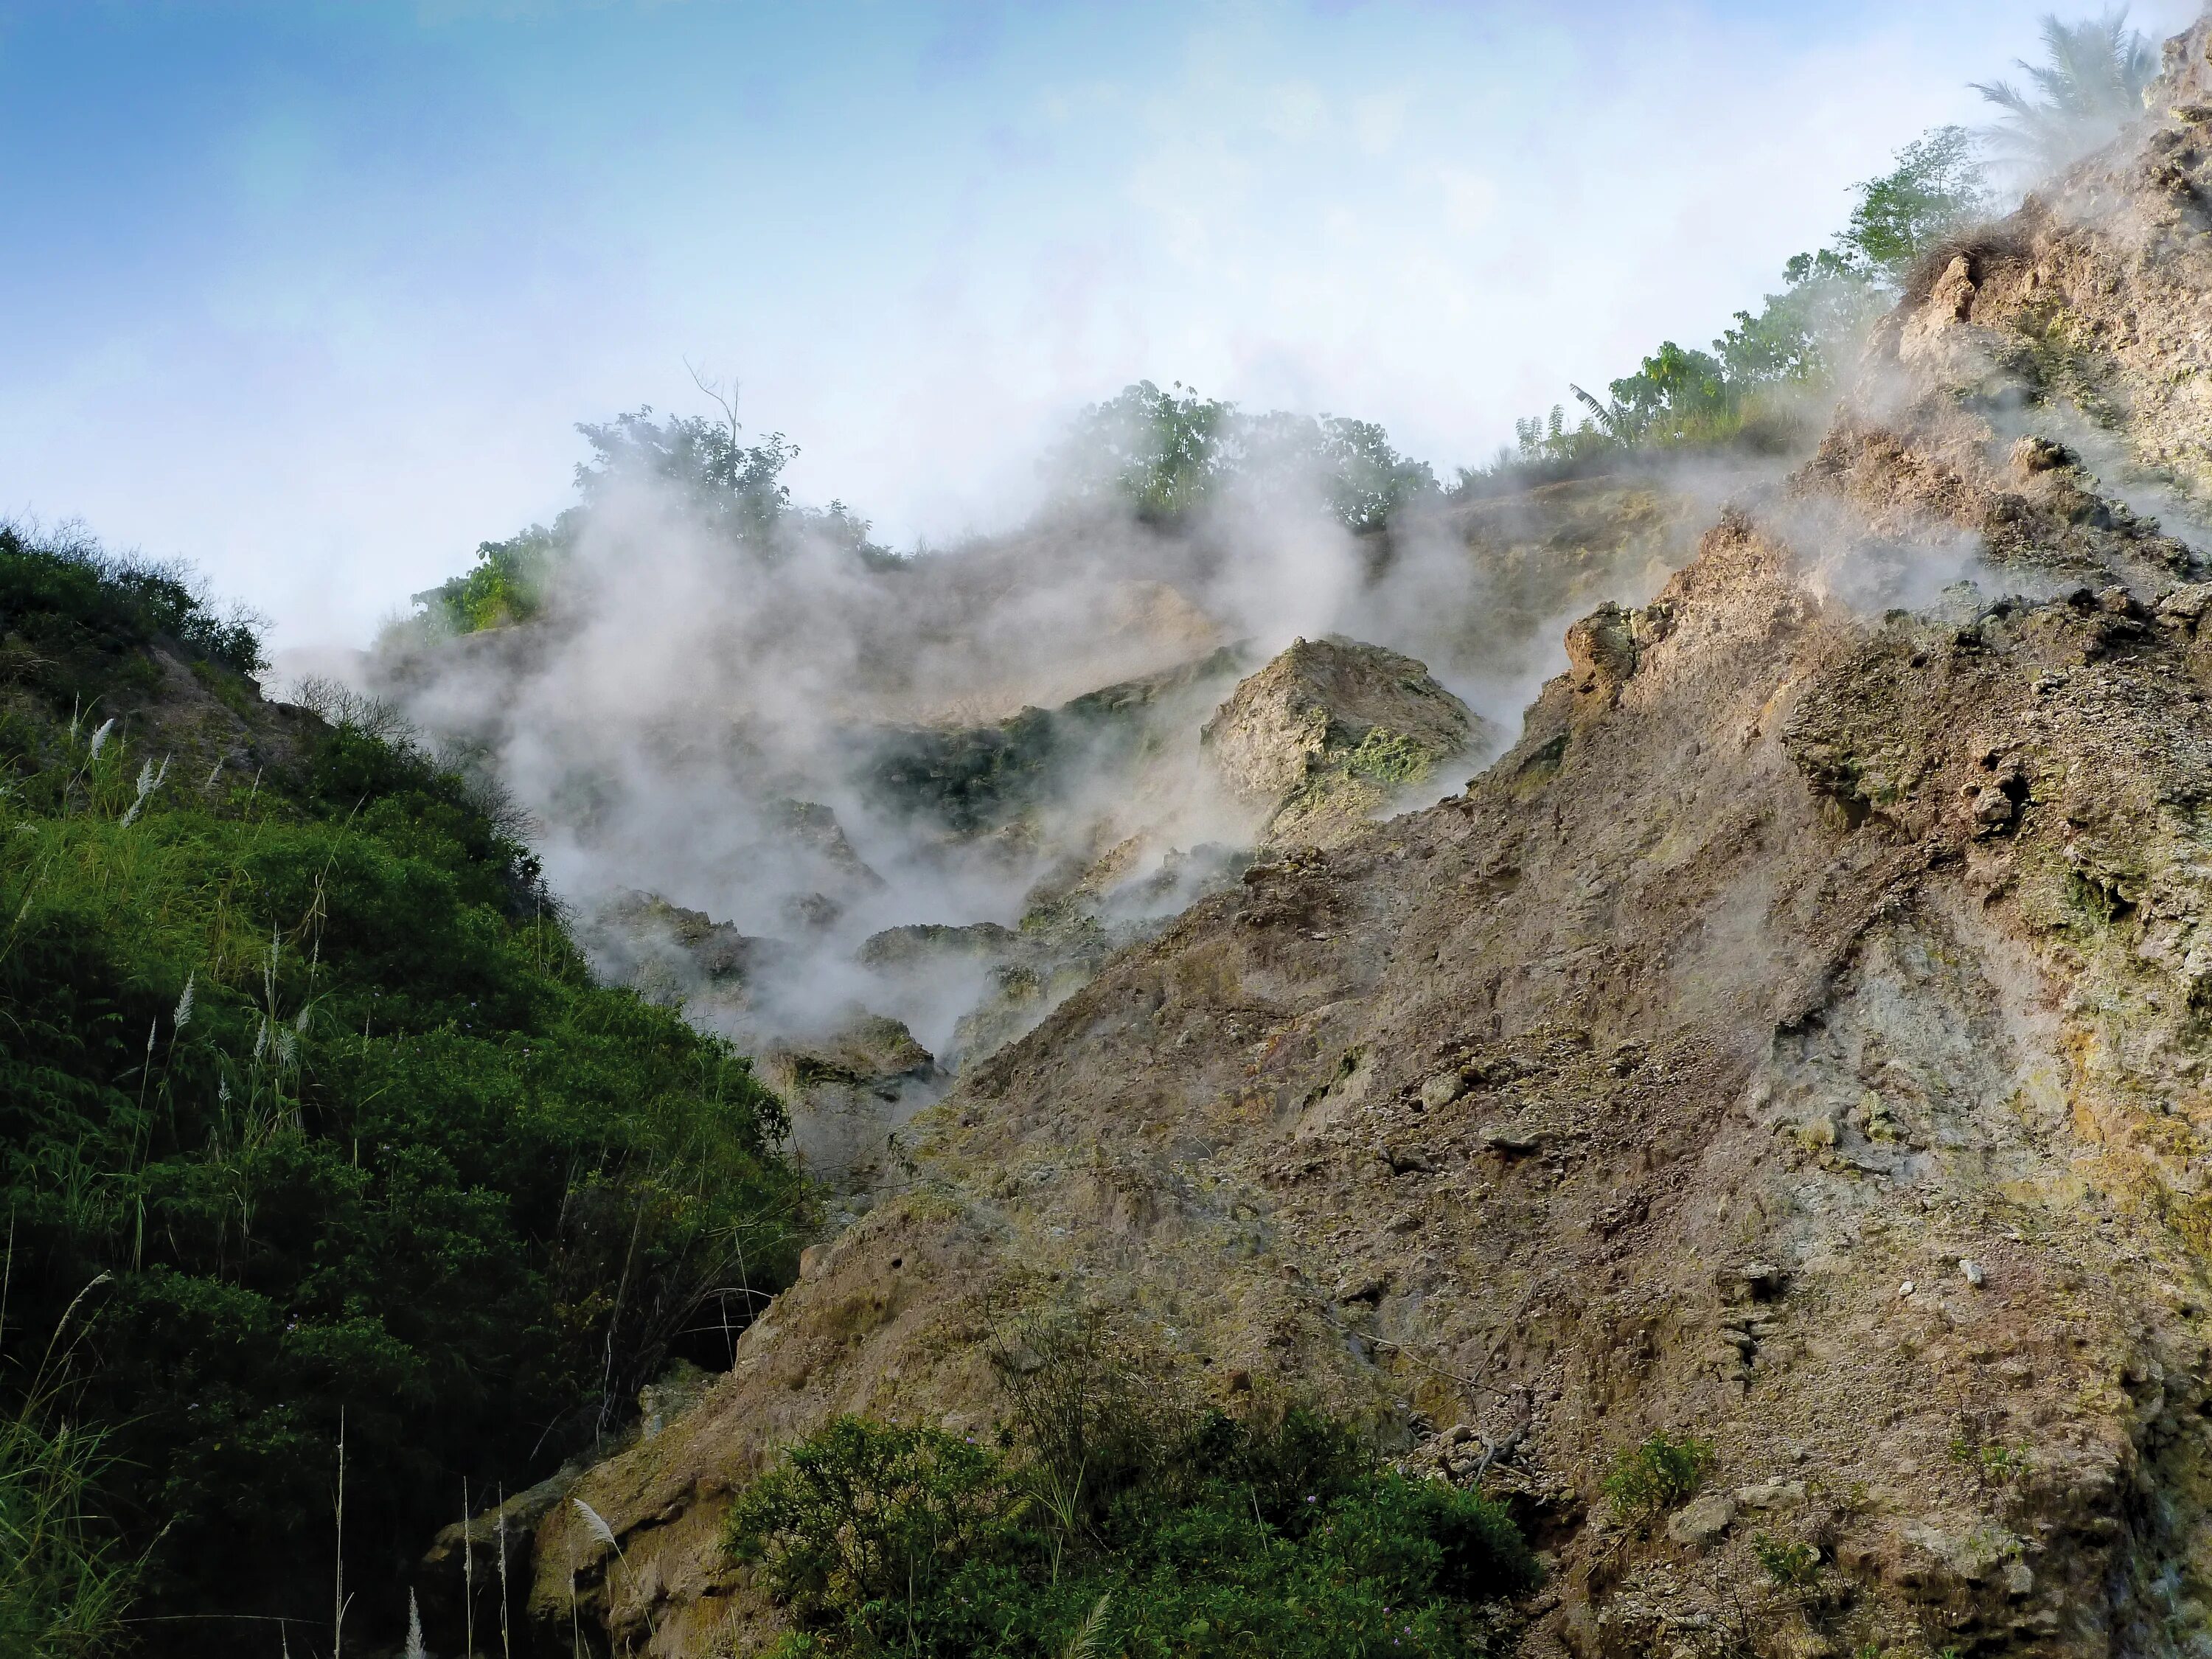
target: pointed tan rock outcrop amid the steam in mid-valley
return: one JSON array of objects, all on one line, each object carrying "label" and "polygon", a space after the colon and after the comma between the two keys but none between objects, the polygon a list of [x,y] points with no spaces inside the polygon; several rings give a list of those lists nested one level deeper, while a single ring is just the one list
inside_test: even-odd
[{"label": "pointed tan rock outcrop amid the steam in mid-valley", "polygon": [[1265,814],[1261,843],[1334,847],[1486,741],[1429,670],[1356,639],[1298,639],[1206,723],[1230,790]]}]

